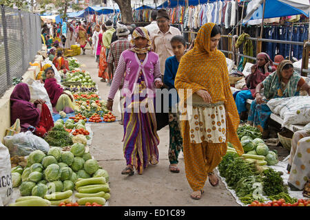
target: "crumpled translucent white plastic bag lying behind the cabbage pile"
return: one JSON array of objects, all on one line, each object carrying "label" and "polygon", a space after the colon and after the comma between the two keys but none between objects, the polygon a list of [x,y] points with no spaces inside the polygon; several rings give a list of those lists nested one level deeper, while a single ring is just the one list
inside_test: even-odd
[{"label": "crumpled translucent white plastic bag lying behind the cabbage pile", "polygon": [[8,147],[11,157],[27,156],[32,151],[41,150],[48,153],[50,145],[48,142],[31,131],[21,132],[13,136],[3,137],[4,144]]}]

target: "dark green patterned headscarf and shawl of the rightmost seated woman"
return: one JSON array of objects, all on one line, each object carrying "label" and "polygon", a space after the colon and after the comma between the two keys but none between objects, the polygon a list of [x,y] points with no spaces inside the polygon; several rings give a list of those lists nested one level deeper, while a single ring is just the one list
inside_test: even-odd
[{"label": "dark green patterned headscarf and shawl of the rightmost seated woman", "polygon": [[275,97],[291,97],[295,96],[297,91],[297,85],[301,78],[301,76],[297,72],[293,72],[293,75],[289,79],[289,83],[287,83],[287,87],[282,89],[282,70],[285,65],[293,63],[288,60],[281,61],[278,65],[277,71],[270,74],[263,82],[264,85],[264,96],[267,100]]}]

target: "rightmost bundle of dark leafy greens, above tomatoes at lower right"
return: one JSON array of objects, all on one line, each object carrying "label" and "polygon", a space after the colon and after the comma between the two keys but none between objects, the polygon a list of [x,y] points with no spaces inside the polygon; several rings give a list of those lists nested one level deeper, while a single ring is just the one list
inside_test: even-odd
[{"label": "rightmost bundle of dark leafy greens, above tomatoes at lower right", "polygon": [[281,177],[282,173],[269,168],[262,172],[264,175],[263,181],[263,190],[265,195],[278,195],[280,192],[287,193],[287,186],[283,184],[283,179]]}]

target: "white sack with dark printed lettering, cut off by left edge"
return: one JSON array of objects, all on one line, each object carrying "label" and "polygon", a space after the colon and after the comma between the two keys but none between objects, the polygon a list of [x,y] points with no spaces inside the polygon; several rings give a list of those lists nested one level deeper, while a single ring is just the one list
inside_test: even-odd
[{"label": "white sack with dark printed lettering, cut off by left edge", "polygon": [[0,143],[0,206],[11,202],[13,193],[11,161],[8,148]]}]

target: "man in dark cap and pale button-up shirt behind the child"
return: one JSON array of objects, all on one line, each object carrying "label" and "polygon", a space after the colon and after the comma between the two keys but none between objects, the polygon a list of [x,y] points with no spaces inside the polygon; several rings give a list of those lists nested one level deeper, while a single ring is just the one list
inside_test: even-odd
[{"label": "man in dark cap and pale button-up shirt behind the child", "polygon": [[169,25],[169,14],[165,9],[158,10],[156,22],[158,29],[151,34],[153,50],[159,56],[161,64],[161,76],[165,73],[165,62],[170,56],[174,56],[170,40],[173,36],[182,35],[178,28]]}]

